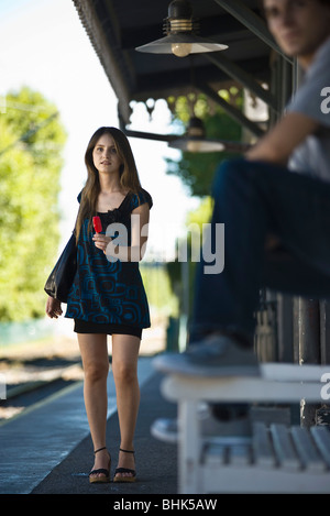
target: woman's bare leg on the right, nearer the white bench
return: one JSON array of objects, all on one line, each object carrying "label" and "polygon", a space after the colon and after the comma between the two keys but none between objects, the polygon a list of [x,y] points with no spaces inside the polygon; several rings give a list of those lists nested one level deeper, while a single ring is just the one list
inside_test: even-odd
[{"label": "woman's bare leg on the right, nearer the white bench", "polygon": [[[123,450],[134,450],[134,433],[140,406],[138,356],[140,339],[133,336],[112,336],[112,371],[117,391],[117,409]],[[135,469],[133,453],[119,453],[118,468]]]}]

